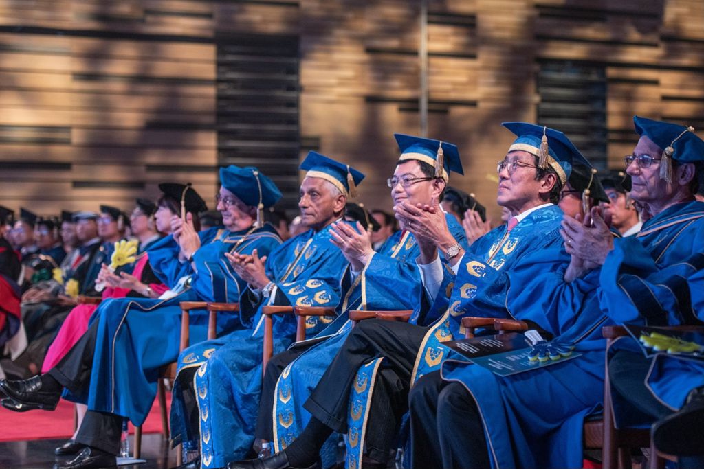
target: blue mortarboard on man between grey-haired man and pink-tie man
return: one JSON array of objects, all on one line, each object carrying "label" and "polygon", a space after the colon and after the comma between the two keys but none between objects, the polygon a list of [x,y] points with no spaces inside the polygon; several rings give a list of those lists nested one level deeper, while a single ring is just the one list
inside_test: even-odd
[{"label": "blue mortarboard on man between grey-haired man and pink-tie man", "polygon": [[446,141],[425,139],[406,134],[394,134],[401,157],[398,161],[417,160],[435,168],[435,175],[448,181],[449,172],[465,174],[456,145]]}]

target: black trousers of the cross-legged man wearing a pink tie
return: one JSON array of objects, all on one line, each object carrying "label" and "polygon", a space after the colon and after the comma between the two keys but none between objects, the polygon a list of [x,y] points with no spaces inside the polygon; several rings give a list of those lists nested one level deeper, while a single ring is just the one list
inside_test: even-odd
[{"label": "black trousers of the cross-legged man wearing a pink tie", "polygon": [[367,456],[385,462],[398,423],[408,411],[415,357],[428,330],[379,319],[360,322],[351,330],[304,407],[332,430],[347,432],[349,396],[357,372],[363,364],[383,356],[372,393],[365,444]]}]

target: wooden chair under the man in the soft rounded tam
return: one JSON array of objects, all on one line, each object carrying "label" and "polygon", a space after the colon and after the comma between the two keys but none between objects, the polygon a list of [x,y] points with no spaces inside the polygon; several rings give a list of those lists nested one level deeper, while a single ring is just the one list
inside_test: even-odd
[{"label": "wooden chair under the man in the soft rounded tam", "polygon": [[[183,352],[189,346],[190,342],[190,311],[194,309],[208,310],[208,340],[214,339],[218,333],[218,312],[239,311],[239,303],[208,303],[200,301],[183,301],[181,307],[181,337],[179,342],[179,352]],[[169,420],[167,415],[166,405],[166,386],[164,380],[176,379],[177,363],[172,362],[163,368],[161,376],[156,383],[156,398],[159,402],[161,410],[161,432],[165,438],[169,435]],[[181,445],[176,447],[176,465],[182,464]],[[142,426],[134,428],[134,457],[139,458],[142,455]]]}]

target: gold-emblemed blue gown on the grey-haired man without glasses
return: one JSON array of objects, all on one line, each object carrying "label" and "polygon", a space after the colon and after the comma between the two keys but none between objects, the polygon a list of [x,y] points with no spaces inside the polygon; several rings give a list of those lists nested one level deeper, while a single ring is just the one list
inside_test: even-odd
[{"label": "gold-emblemed blue gown on the grey-haired man without glasses", "polygon": [[[330,306],[339,302],[340,276],[347,261],[330,238],[329,226],[317,233],[309,230],[269,255],[266,271],[277,285],[275,304]],[[199,367],[194,387],[203,468],[222,467],[243,458],[254,441],[262,385],[264,304],[252,301],[249,290],[239,304],[241,317],[250,328],[189,347],[179,359],[179,371]],[[314,335],[332,321],[309,318],[306,333]],[[275,316],[273,322],[274,353],[278,353],[294,340],[296,321],[285,315]],[[172,412],[172,442],[187,439],[186,425],[182,414],[175,416]]]}]

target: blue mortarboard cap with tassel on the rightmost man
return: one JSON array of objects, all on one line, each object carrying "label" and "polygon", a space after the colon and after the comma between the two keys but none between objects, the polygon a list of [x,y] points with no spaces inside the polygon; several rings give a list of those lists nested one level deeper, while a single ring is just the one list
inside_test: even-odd
[{"label": "blue mortarboard cap with tassel on the rightmost man", "polygon": [[[673,124],[662,120],[634,116],[636,132],[647,136],[662,148],[660,178],[672,182],[672,161],[683,163],[704,161],[704,141],[694,133],[694,127]],[[652,155],[651,155],[652,156]]]}]

